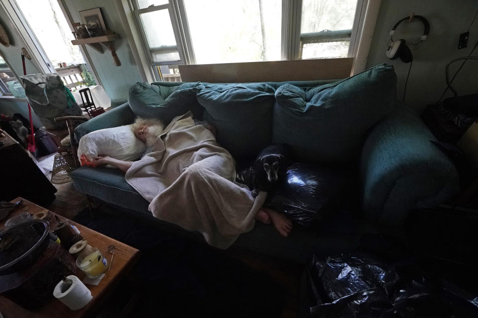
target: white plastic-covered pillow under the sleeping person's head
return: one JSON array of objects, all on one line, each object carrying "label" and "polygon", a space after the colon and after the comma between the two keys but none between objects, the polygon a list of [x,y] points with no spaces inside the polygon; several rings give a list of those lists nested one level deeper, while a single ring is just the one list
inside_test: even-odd
[{"label": "white plastic-covered pillow under the sleeping person's head", "polygon": [[131,130],[132,125],[100,129],[81,137],[78,146],[78,160],[86,155],[92,160],[98,155],[133,161],[146,151],[146,144],[136,138]]}]

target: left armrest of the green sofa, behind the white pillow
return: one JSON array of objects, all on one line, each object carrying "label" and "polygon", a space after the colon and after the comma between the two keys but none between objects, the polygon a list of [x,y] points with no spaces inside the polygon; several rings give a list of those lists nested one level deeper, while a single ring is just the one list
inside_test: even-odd
[{"label": "left armrest of the green sofa, behind the white pillow", "polygon": [[95,130],[129,125],[135,117],[129,104],[124,103],[76,127],[75,138],[79,141],[81,137]]}]

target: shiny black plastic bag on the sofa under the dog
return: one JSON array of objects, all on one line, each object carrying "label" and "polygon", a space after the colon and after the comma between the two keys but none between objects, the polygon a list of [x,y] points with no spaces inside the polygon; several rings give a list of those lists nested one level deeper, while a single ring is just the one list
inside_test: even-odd
[{"label": "shiny black plastic bag on the sofa under the dog", "polygon": [[[241,170],[236,180],[252,189],[252,167]],[[337,203],[343,178],[335,171],[319,165],[295,162],[285,178],[269,193],[265,206],[284,213],[302,226],[322,219]]]}]

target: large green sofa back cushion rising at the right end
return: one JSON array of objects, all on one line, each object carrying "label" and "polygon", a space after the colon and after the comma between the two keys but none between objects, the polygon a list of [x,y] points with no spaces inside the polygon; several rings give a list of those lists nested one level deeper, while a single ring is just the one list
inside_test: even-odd
[{"label": "large green sofa back cushion rising at the right end", "polygon": [[284,84],[275,92],[273,142],[292,146],[298,159],[357,160],[366,131],[392,110],[395,85],[385,64],[311,89]]}]

